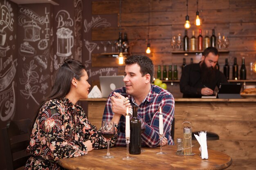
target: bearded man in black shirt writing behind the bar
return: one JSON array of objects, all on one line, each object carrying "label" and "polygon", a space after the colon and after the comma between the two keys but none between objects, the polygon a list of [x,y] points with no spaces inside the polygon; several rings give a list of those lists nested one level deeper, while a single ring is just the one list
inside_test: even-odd
[{"label": "bearded man in black shirt writing behind the bar", "polygon": [[187,65],[180,78],[180,92],[183,98],[200,98],[214,95],[214,89],[220,83],[228,83],[225,75],[216,69],[219,59],[218,50],[208,47],[197,64]]}]

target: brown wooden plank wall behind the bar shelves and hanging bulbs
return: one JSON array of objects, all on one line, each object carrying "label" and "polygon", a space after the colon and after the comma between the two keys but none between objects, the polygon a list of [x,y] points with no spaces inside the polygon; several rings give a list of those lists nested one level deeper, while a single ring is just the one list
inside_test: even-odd
[{"label": "brown wooden plank wall behind the bar shelves and hanging bulbs", "polygon": [[[205,36],[206,30],[211,35],[211,29],[215,29],[215,34],[225,35],[229,38],[229,53],[221,53],[219,64],[223,71],[225,58],[228,58],[229,65],[234,63],[234,57],[238,58],[238,65],[241,65],[242,57],[245,57],[247,77],[249,76],[249,63],[256,61],[256,1],[255,0],[199,0],[198,9],[202,25],[195,26],[196,0],[188,1],[189,19],[191,28],[188,36],[191,38],[192,30],[195,35],[199,35],[199,28]],[[119,25],[119,0],[102,0],[92,2],[92,14],[117,14],[114,18]],[[148,25],[149,15],[149,25]],[[186,16],[186,0],[150,0],[150,10],[148,12],[148,1],[146,0],[122,0],[121,8],[121,31],[128,34],[128,40],[134,44],[131,48],[133,55],[146,55],[147,33],[149,26],[149,40],[152,53],[148,55],[155,64],[155,74],[157,65],[177,65],[178,78],[181,76],[182,58],[186,58],[186,63],[190,63],[193,58],[194,63],[199,62],[201,56],[189,54],[173,54],[171,49],[171,37],[181,33],[184,36],[184,20]],[[119,27],[93,28],[92,40],[106,41],[117,40]],[[94,55],[93,62],[99,63]],[[111,60],[111,59],[110,59]],[[115,60],[115,59],[112,59]],[[104,63],[104,62],[101,62]],[[113,61],[112,63],[116,63]],[[93,64],[92,64],[93,65]],[[99,66],[99,64],[97,64]],[[163,67],[162,67],[163,69]],[[240,67],[239,67],[240,69]],[[119,66],[119,74],[124,73],[124,66]],[[231,76],[231,73],[230,73]],[[182,97],[179,84],[174,86],[168,84],[168,90],[175,98]]]}]

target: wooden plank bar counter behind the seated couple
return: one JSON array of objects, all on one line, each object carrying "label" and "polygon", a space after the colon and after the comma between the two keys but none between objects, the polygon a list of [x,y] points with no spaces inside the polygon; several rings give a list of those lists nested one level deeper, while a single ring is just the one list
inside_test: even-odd
[{"label": "wooden plank bar counter behind the seated couple", "polygon": [[[106,98],[86,99],[90,122],[101,127]],[[192,124],[192,131],[206,130],[219,135],[207,141],[210,149],[233,159],[228,169],[254,170],[256,167],[256,99],[175,99],[175,144],[182,137],[183,121]],[[199,147],[197,141],[193,144]]]}]

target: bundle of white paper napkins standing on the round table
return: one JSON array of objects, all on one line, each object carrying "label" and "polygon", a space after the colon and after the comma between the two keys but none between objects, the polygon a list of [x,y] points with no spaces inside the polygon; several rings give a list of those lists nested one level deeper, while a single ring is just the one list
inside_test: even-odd
[{"label": "bundle of white paper napkins standing on the round table", "polygon": [[198,143],[200,144],[201,148],[201,158],[202,159],[208,159],[208,151],[207,151],[207,138],[206,138],[206,131],[205,132],[199,132],[199,136],[195,135],[195,138],[198,140]]}]

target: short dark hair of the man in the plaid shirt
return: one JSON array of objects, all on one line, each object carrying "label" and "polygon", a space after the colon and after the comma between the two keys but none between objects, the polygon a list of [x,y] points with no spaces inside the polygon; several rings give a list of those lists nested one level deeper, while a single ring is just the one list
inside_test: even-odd
[{"label": "short dark hair of the man in the plaid shirt", "polygon": [[142,76],[149,74],[150,82],[153,82],[154,64],[150,58],[145,55],[132,55],[124,60],[126,65],[138,64]]}]

